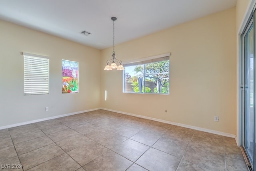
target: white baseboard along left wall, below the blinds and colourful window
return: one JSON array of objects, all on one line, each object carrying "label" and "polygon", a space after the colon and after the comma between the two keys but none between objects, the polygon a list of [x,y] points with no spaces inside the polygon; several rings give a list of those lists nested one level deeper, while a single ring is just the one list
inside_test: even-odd
[{"label": "white baseboard along left wall, below the blinds and colourful window", "polygon": [[52,116],[52,117],[46,117],[46,118],[42,118],[42,119],[36,119],[36,120],[33,120],[33,121],[26,121],[26,122],[21,122],[21,123],[15,123],[15,124],[12,124],[12,125],[2,126],[2,127],[0,127],[0,130],[1,129],[6,129],[6,128],[11,128],[11,127],[22,126],[22,125],[28,125],[30,123],[36,123],[36,122],[46,121],[46,120],[50,120],[50,119],[56,119],[56,118],[59,118],[59,117],[75,115],[75,114],[84,113],[84,112],[88,112],[88,111],[94,111],[94,110],[98,110],[98,109],[100,109],[100,108],[88,109],[88,110],[84,110],[84,111],[77,111],[77,112],[73,112],[73,113],[67,113],[67,114],[64,114],[64,115],[57,115],[57,116]]}]

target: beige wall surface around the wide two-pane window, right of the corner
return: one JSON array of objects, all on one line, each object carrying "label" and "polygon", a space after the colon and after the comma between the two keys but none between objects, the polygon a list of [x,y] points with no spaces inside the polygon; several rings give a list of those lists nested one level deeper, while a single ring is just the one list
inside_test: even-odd
[{"label": "beige wall surface around the wide two-pane window, right of the corner", "polygon": [[236,134],[235,32],[232,8],[116,46],[122,61],[170,52],[170,95],[122,93],[122,72],[103,71],[112,48],[102,50],[101,106]]}]

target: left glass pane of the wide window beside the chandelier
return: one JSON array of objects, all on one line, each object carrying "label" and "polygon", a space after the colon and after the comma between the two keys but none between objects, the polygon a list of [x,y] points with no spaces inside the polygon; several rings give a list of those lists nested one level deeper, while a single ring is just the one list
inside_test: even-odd
[{"label": "left glass pane of the wide window beside the chandelier", "polygon": [[125,67],[125,92],[142,93],[144,92],[144,65]]}]

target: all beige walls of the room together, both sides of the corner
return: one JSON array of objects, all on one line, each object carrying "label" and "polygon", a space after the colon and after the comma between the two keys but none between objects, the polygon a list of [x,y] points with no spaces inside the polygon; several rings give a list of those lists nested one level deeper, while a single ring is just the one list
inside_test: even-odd
[{"label": "all beige walls of the room together, both sides of the corner", "polygon": [[[238,0],[236,8],[116,46],[123,61],[170,52],[170,95],[122,93],[122,72],[103,71],[112,48],[100,51],[0,20],[0,127],[104,107],[236,134],[236,33],[248,3]],[[23,95],[20,52],[49,56],[48,95]],[[79,62],[79,93],[62,94],[62,59]]]}]

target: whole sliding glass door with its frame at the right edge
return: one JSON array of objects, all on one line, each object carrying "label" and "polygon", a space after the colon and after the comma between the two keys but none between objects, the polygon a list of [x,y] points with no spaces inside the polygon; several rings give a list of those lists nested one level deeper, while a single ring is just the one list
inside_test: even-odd
[{"label": "whole sliding glass door with its frame at the right edge", "polygon": [[244,148],[248,166],[255,170],[255,24],[254,15],[242,34],[242,116]]}]

